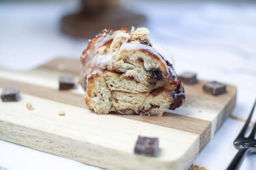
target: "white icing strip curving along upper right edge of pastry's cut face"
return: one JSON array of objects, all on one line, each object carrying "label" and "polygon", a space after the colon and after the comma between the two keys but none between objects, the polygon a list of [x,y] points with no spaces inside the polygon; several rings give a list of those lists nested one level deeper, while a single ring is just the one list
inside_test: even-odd
[{"label": "white icing strip curving along upper right edge of pastry's cut face", "polygon": [[[172,69],[171,67],[167,66],[166,61],[168,61],[164,56],[160,56],[159,53],[153,48],[150,47],[148,45],[144,45],[144,44],[138,44],[138,43],[123,43],[120,47],[120,51],[131,51],[131,50],[147,50],[151,53],[153,53],[155,56],[157,56],[158,58],[160,58],[160,60],[165,64],[165,68],[167,71],[167,74],[169,76],[175,76],[174,80],[177,80],[177,75],[174,71],[174,69]],[[171,75],[169,73],[169,70],[171,72]]]}]

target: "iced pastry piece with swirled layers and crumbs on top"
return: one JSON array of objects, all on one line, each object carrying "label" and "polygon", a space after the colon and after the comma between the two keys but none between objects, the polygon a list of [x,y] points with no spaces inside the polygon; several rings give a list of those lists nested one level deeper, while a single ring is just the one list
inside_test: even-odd
[{"label": "iced pastry piece with swirled layers and crumbs on top", "polygon": [[185,101],[173,65],[152,46],[147,28],[104,29],[80,57],[85,103],[98,114],[162,116]]}]

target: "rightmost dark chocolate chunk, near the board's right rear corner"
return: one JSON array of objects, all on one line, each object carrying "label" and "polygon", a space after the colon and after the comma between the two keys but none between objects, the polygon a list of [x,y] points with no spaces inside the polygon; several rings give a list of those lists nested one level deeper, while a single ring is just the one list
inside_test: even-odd
[{"label": "rightmost dark chocolate chunk, near the board's right rear corner", "polygon": [[218,83],[217,81],[212,81],[204,84],[203,90],[207,93],[217,96],[226,92],[226,85]]}]

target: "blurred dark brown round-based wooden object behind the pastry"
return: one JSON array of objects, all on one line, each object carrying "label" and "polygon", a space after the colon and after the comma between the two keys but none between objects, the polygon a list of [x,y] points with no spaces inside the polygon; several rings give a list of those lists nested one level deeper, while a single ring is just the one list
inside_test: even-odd
[{"label": "blurred dark brown round-based wooden object behind the pastry", "polygon": [[92,38],[102,29],[128,29],[146,21],[146,17],[120,6],[120,0],[81,0],[79,12],[62,18],[62,32],[75,38]]}]

